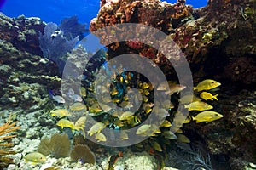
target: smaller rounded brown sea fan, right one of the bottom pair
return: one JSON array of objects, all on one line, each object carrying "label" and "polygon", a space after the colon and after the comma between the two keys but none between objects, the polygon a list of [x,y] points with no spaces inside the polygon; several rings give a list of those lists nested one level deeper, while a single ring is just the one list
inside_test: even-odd
[{"label": "smaller rounded brown sea fan, right one of the bottom pair", "polygon": [[85,144],[77,144],[70,153],[72,161],[81,161],[82,163],[95,164],[96,159],[93,152]]}]

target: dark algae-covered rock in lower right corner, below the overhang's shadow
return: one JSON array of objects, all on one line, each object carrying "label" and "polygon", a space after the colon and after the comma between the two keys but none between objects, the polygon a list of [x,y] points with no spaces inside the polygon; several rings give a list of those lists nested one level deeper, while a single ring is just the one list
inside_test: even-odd
[{"label": "dark algae-covered rock in lower right corner, below the overhang's shadow", "polygon": [[[236,89],[235,89],[236,90]],[[230,94],[222,94],[230,95]],[[247,90],[222,99],[223,119],[207,125],[187,124],[192,136],[199,135],[215,156],[224,156],[230,169],[244,169],[256,160],[256,96]],[[195,137],[194,137],[195,138]]]}]

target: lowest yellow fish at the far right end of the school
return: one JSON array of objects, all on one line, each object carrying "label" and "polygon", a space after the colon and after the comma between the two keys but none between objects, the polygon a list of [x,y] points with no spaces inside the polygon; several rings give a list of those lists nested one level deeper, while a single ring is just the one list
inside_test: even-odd
[{"label": "lowest yellow fish at the far right end of the school", "polygon": [[195,117],[192,116],[192,119],[196,121],[196,123],[199,122],[212,122],[215,120],[218,120],[222,118],[223,115],[219,114],[216,111],[202,111],[201,113],[197,114]]}]

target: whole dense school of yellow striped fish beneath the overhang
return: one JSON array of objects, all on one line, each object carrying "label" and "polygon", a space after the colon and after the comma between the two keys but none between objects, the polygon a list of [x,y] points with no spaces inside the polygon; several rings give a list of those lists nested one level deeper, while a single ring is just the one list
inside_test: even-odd
[{"label": "whole dense school of yellow striped fish beneath the overhang", "polygon": [[[212,104],[208,104],[207,101],[218,101],[218,94],[215,93],[214,90],[221,84],[214,80],[204,80],[197,84],[194,88],[194,94],[184,95],[183,98],[178,99],[178,102],[183,104],[183,107],[189,111],[188,117],[183,117],[183,113],[179,111],[175,111],[175,105],[170,103],[170,101],[163,101],[160,106],[154,107],[154,99],[152,99],[153,86],[148,82],[137,81],[137,86],[130,86],[131,74],[125,74],[125,77],[119,77],[115,79],[115,83],[124,83],[126,84],[127,94],[120,94],[119,89],[113,86],[110,88],[110,97],[106,98],[106,95],[102,95],[103,104],[99,104],[96,102],[92,96],[93,93],[96,93],[94,88],[87,89],[87,92],[84,88],[82,90],[84,102],[74,102],[73,105],[69,105],[67,109],[55,109],[54,111],[50,111],[51,116],[57,116],[58,122],[57,126],[63,129],[64,127],[71,128],[72,131],[81,131],[85,137],[85,134],[90,136],[95,136],[97,141],[107,141],[108,136],[102,133],[102,130],[105,127],[119,129],[120,140],[129,139],[129,135],[122,131],[122,129],[129,129],[131,127],[137,128],[137,135],[140,136],[149,136],[152,139],[152,147],[154,150],[161,151],[161,144],[156,137],[164,137],[162,140],[164,144],[170,144],[169,140],[177,139],[178,142],[189,143],[189,139],[183,135],[183,131],[180,128],[177,128],[177,133],[172,133],[169,129],[173,125],[177,127],[181,127],[185,123],[189,123],[191,121],[199,122],[212,122],[222,118],[223,116],[216,111],[210,111],[213,109]],[[168,82],[168,86],[166,84],[160,83],[156,86],[156,90],[162,91],[165,94],[178,94],[184,88],[183,85],[177,84],[175,82]],[[109,88],[109,87],[108,87]],[[134,93],[133,88],[137,88],[139,94]],[[97,90],[100,90],[102,93],[109,93],[109,90],[103,86],[97,86]],[[109,95],[108,95],[109,96]],[[128,97],[129,96],[129,97]],[[135,101],[135,104],[131,104],[129,100],[132,98]],[[192,102],[189,101],[192,99]],[[107,104],[113,102],[119,107],[122,107],[125,111],[119,113],[115,111],[113,108],[109,107]],[[84,105],[85,103],[85,105]],[[130,111],[134,105],[143,104],[140,109],[136,112]],[[161,123],[160,127],[157,127],[154,124],[142,124],[141,123],[147,119],[148,115],[151,111],[155,109],[157,116],[160,118],[165,118],[165,120]],[[108,114],[111,113],[111,114]],[[79,119],[76,122],[71,122],[68,120],[68,116],[79,115]],[[84,127],[86,126],[86,116],[99,116],[104,117],[102,122],[97,122],[96,124],[90,127],[88,132],[84,132]],[[175,119],[175,123],[172,125],[173,120]],[[185,121],[184,121],[185,120]]]}]

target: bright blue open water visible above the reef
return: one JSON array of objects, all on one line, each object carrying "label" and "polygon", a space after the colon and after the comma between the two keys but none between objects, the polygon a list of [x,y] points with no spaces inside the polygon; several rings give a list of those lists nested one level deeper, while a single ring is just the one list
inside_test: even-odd
[{"label": "bright blue open water visible above the reef", "polygon": [[[9,17],[17,17],[24,14],[26,17],[37,16],[45,22],[59,24],[64,17],[77,15],[79,22],[90,24],[90,20],[96,17],[100,0],[0,0],[4,2],[1,8],[3,14]],[[167,0],[168,3],[176,3],[177,0]],[[207,0],[187,0],[194,8],[207,5]]]}]

